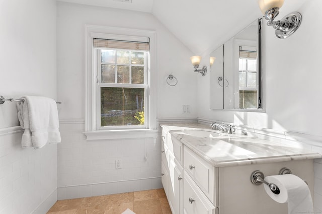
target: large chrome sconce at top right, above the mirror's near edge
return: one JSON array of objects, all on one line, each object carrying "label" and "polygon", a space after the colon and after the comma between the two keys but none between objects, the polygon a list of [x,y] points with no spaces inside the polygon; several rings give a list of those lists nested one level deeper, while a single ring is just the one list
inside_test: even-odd
[{"label": "large chrome sconce at top right, above the mirror's near edge", "polygon": [[279,14],[279,9],[283,6],[284,0],[258,0],[258,5],[268,20],[267,25],[275,28],[275,34],[280,39],[285,39],[292,35],[300,26],[302,16],[298,12],[293,12],[283,17],[281,21],[274,21]]}]

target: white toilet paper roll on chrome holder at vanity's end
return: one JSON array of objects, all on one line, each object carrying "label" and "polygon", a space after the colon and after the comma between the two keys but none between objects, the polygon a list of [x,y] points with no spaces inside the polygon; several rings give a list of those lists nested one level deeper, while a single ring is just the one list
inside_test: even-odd
[{"label": "white toilet paper roll on chrome holder at vanity's end", "polygon": [[294,174],[281,174],[267,176],[264,180],[278,186],[279,194],[274,194],[267,185],[264,185],[264,188],[275,201],[288,203],[289,214],[314,213],[310,190],[301,178]]}]

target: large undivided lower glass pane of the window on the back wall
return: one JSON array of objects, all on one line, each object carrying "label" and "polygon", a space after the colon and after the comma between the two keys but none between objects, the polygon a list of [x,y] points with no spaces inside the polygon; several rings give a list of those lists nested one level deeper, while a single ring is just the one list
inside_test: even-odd
[{"label": "large undivided lower glass pane of the window on the back wall", "polygon": [[101,88],[101,126],[144,125],[144,88]]}]

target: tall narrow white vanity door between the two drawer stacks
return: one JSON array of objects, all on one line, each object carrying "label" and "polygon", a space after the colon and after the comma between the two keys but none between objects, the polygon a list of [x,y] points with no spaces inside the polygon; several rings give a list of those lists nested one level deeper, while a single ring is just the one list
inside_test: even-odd
[{"label": "tall narrow white vanity door between the two drawer stacks", "polygon": [[180,214],[183,213],[183,168],[173,156],[169,157],[169,205],[173,214]]}]

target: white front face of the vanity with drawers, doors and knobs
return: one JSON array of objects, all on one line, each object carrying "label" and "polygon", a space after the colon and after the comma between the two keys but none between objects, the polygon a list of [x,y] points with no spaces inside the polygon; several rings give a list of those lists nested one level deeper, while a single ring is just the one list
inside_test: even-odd
[{"label": "white front face of the vanity with drawers, doors and knobs", "polygon": [[169,131],[167,127],[162,128],[162,183],[172,213],[217,213],[213,204],[213,167],[179,140],[172,139]]}]

